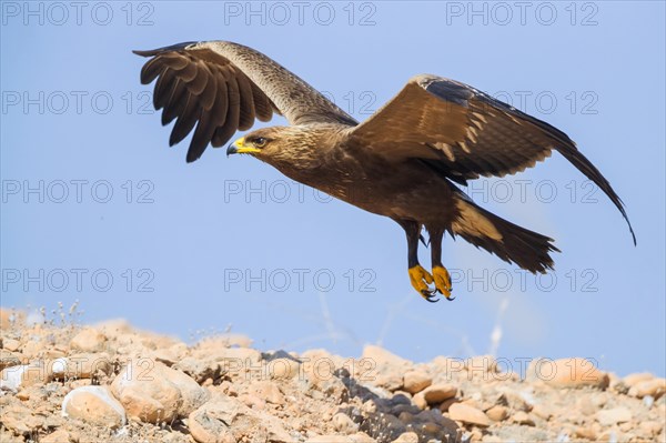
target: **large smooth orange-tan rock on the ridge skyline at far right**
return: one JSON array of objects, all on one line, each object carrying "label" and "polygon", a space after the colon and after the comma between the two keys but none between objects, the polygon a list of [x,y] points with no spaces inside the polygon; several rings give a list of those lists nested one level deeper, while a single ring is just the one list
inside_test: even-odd
[{"label": "large smooth orange-tan rock on the ridge skyline at far right", "polygon": [[527,366],[528,381],[541,380],[554,387],[608,387],[608,374],[599,371],[595,364],[581,358],[535,359]]}]

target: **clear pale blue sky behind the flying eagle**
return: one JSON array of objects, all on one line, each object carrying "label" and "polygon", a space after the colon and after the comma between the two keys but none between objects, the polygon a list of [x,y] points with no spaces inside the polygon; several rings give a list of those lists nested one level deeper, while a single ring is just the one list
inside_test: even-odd
[{"label": "clear pale blue sky behind the flying eagle", "polygon": [[[79,300],[84,322],[183,340],[231,330],[261,349],[379,342],[415,361],[575,355],[664,375],[664,3],[471,4],[2,1],[0,304]],[[556,272],[446,239],[456,300],[426,303],[391,220],[248,157],[209,149],[185,164],[186,140],[168,147],[131,50],[215,39],[269,54],[359,120],[422,72],[509,101],[577,142],[638,245],[554,154],[467,192],[553,236]]]}]

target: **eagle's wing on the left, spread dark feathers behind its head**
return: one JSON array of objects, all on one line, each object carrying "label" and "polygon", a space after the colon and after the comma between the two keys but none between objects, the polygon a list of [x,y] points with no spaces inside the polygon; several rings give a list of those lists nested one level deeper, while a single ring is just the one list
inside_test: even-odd
[{"label": "eagle's wing on the left, spread dark feathers behind its head", "polygon": [[151,57],[141,70],[141,83],[158,79],[153,104],[163,109],[162,124],[176,119],[169,144],[196,125],[188,162],[199,159],[209,143],[221,147],[238,130],[250,129],[255,119],[269,121],[273,113],[292,124],[356,124],[299,77],[242,44],[188,42],[134,53]]}]

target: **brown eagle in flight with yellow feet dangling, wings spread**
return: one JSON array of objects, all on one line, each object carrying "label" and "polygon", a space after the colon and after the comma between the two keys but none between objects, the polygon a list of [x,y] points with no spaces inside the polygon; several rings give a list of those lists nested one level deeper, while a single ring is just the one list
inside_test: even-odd
[{"label": "brown eagle in flight with yellow feet dangling, wings spread", "polygon": [[[460,185],[532,168],[555,150],[602,189],[636,236],[610,183],[567,134],[465,83],[418,74],[360,123],[271,58],[229,41],[185,42],[149,51],[141,83],[157,79],[155,110],[173,120],[169,144],[194,131],[186,161],[225,145],[255,120],[283,115],[235,140],[226,154],[249,154],[284,175],[400,224],[412,286],[430,301],[453,300],[442,264],[444,233],[461,236],[533,273],[553,269],[554,240],[478,207]],[[418,262],[431,245],[432,268]]]}]

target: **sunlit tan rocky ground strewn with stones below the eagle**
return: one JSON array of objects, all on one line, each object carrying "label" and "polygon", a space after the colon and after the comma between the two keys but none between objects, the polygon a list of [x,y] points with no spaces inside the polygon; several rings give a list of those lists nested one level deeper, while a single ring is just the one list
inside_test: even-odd
[{"label": "sunlit tan rocky ground strewn with stones below the eagle", "polygon": [[260,352],[125,322],[27,322],[0,310],[6,442],[666,442],[666,380],[584,359],[413,363],[369,345]]}]

